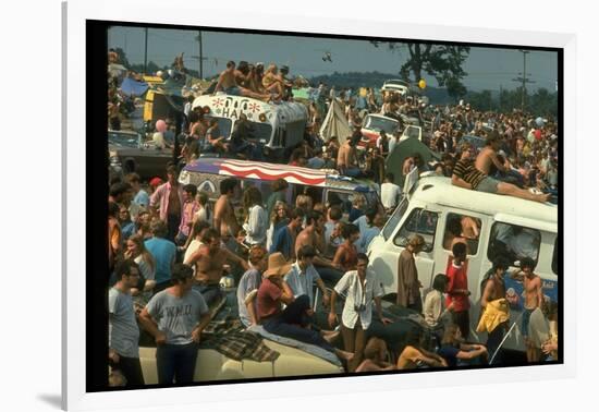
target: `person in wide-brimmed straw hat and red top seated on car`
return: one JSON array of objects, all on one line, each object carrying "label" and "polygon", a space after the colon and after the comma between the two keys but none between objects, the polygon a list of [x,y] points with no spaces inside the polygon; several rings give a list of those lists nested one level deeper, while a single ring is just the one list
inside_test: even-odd
[{"label": "person in wide-brimmed straw hat and red top seated on car", "polygon": [[[297,299],[293,296],[293,291],[283,281],[283,276],[290,269],[291,263],[285,260],[282,253],[273,253],[268,257],[268,269],[258,289],[258,316],[266,331],[316,344],[340,358],[351,359],[351,353],[335,349],[317,331],[298,326],[305,323],[304,314],[310,311],[310,301],[306,294]],[[284,310],[281,303],[286,305]]]}]

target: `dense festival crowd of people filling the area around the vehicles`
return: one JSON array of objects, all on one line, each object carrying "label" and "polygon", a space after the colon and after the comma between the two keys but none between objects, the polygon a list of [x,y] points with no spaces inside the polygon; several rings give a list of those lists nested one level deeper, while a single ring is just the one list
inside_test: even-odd
[{"label": "dense festival crowd of people filling the area around the vehicles", "polygon": [[[212,92],[265,101],[293,99],[292,82],[285,77],[289,68],[264,68],[262,63],[230,62]],[[110,88],[111,124],[118,120],[111,114],[117,94]],[[325,141],[319,135],[325,116],[319,106],[323,102],[326,107],[332,99],[342,106],[354,128],[342,145],[335,136]],[[227,155],[237,154],[241,148],[253,158],[255,148],[245,150],[243,120],[228,138],[201,110],[185,110],[183,162],[193,161],[206,149]],[[419,119],[423,143],[440,154],[441,161],[427,165],[414,155],[398,170],[386,170],[380,159],[393,150],[401,130],[392,135],[381,132],[375,147],[359,150],[362,119],[372,112],[400,120],[401,128],[407,116]],[[444,274],[435,278],[426,295],[421,295],[415,264],[424,239],[412,235],[399,256],[394,303],[421,314],[428,327],[425,332],[408,334],[403,351],[395,358],[384,340],[368,339],[367,330],[374,322],[386,325],[391,320],[383,315],[380,282],[365,252],[398,205],[400,189],[394,175],[414,168],[451,178],[453,184],[479,192],[535,202],[557,195],[555,122],[521,111],[479,112],[464,102],[430,106],[411,95],[387,94],[377,100],[371,89],[359,94],[331,87],[328,92],[325,85],[317,88],[309,113],[305,142],[291,153],[289,162],[332,168],[350,177],[370,177],[380,183],[380,207],[365,206],[363,196],[357,195],[344,218],[339,205],[323,204],[308,194],[288,204],[284,180],[272,183],[268,198],[254,186],[245,187],[241,202],[235,204],[241,185],[234,178],[220,183],[220,197],[212,205],[207,193],[179,183],[175,163],[166,170],[163,180],[157,177],[142,182],[139,175],[130,173],[109,182],[109,362],[127,385],[144,383],[138,350],[142,331],[157,344],[160,384],[193,380],[198,343],[210,322],[210,307],[223,299],[220,282],[228,275],[237,280],[239,316],[244,327],[261,325],[270,334],[320,347],[338,355],[347,372],[486,364],[489,355],[497,355],[508,319],[481,319],[488,341],[468,343],[472,291],[465,268],[467,223],[457,225],[448,246],[453,260]],[[463,140],[466,135],[481,137],[480,150]],[[476,225],[470,229],[476,231]],[[545,306],[542,282],[534,272],[531,259],[521,262],[517,274],[506,274],[509,266],[499,258],[493,263],[481,305],[486,312],[488,308],[489,313],[501,314],[498,301],[505,296],[503,278],[513,276],[524,284],[525,324],[536,307]],[[316,294],[328,313],[330,330],[319,327],[315,319]],[[341,298],[339,316],[335,303]],[[526,325],[523,330],[527,330]],[[541,346],[528,338],[526,343],[529,362],[547,355],[555,359],[554,336]],[[496,362],[499,359],[497,355]]]}]

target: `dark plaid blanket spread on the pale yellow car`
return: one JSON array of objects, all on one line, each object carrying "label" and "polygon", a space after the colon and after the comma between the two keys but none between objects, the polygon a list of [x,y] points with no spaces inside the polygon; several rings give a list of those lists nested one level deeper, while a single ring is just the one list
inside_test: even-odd
[{"label": "dark plaid blanket spread on the pale yellow car", "polygon": [[215,349],[235,361],[249,359],[256,362],[274,362],[280,355],[268,348],[258,334],[250,331],[223,335],[215,342]]}]

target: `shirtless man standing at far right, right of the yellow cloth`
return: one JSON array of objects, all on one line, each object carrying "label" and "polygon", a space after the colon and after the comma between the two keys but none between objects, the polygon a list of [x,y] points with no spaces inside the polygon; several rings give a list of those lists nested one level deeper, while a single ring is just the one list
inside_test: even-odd
[{"label": "shirtless man standing at far right, right of the yellow cloth", "polygon": [[542,307],[542,281],[535,275],[535,260],[525,257],[521,260],[519,270],[512,274],[512,278],[524,283],[524,312],[522,314],[522,335],[526,344],[526,359],[528,362],[539,361],[539,348],[535,348],[528,336],[530,315],[537,307]]}]

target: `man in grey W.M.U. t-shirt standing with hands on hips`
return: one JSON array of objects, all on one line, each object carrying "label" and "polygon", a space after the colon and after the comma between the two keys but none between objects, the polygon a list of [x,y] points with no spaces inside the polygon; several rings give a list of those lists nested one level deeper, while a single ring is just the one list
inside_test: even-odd
[{"label": "man in grey W.M.U. t-shirt standing with hands on hips", "polygon": [[176,264],[173,286],[155,294],[139,315],[142,326],[156,339],[158,383],[171,385],[194,379],[201,331],[210,322],[208,306],[194,284],[191,266]]}]

